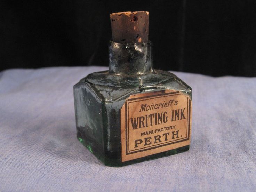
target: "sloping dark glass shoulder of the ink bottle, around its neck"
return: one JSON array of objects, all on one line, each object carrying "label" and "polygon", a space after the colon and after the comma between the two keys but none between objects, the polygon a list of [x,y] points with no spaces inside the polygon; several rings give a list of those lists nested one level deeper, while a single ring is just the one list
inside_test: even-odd
[{"label": "sloping dark glass shoulder of the ink bottle, around its neck", "polygon": [[108,71],[95,72],[81,79],[74,89],[86,86],[101,98],[125,99],[131,94],[164,89],[179,90],[191,95],[191,88],[173,73],[154,70],[137,76],[110,75]]}]

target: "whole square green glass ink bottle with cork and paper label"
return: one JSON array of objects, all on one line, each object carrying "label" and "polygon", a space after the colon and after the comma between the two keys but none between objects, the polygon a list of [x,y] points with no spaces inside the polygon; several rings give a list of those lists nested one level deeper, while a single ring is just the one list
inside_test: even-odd
[{"label": "whole square green glass ink bottle with cork and paper label", "polygon": [[189,150],[191,88],[153,69],[149,13],[112,13],[109,70],[74,85],[77,138],[107,166]]}]

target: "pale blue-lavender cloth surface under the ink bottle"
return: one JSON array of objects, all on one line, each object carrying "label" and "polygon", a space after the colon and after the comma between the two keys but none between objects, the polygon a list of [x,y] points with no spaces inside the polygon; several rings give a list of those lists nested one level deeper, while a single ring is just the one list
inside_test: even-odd
[{"label": "pale blue-lavender cloth surface under the ink bottle", "polygon": [[76,138],[73,85],[102,70],[0,72],[0,191],[255,191],[256,78],[173,72],[192,87],[190,150],[114,168]]}]

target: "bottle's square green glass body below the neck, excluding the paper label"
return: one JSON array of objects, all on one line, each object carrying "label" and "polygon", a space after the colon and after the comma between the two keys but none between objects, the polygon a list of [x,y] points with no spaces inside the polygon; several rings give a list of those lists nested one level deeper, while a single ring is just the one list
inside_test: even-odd
[{"label": "bottle's square green glass body below the neck, excluding the paper label", "polygon": [[189,150],[189,145],[146,157],[121,161],[120,110],[130,95],[177,90],[189,96],[191,88],[176,75],[151,70],[142,75],[95,72],[74,85],[77,138],[107,166],[120,167]]}]

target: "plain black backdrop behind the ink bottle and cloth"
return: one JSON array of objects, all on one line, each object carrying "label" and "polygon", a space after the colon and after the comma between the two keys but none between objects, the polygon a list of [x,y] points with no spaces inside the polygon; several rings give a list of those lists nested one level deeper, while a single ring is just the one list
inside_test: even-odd
[{"label": "plain black backdrop behind the ink bottle and cloth", "polygon": [[0,70],[107,66],[109,14],[141,10],[156,69],[256,76],[255,0],[1,0]]}]

